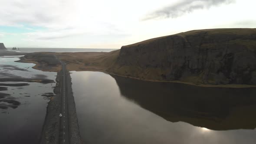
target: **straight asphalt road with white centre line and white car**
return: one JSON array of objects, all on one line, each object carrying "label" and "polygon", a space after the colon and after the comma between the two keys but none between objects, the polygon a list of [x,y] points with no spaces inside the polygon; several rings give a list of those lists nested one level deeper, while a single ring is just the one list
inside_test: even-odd
[{"label": "straight asphalt road with white centre line and white car", "polygon": [[68,112],[68,98],[66,88],[66,63],[61,62],[62,65],[62,86],[61,86],[61,111],[62,117],[60,117],[60,128],[59,128],[59,144],[69,144],[69,112]]}]

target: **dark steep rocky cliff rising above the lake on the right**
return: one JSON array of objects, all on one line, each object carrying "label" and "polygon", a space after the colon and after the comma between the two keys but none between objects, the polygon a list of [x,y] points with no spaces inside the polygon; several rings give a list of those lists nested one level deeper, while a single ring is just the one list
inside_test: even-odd
[{"label": "dark steep rocky cliff rising above the lake on the right", "polygon": [[256,85],[256,29],[205,29],[122,46],[111,71],[139,79]]}]

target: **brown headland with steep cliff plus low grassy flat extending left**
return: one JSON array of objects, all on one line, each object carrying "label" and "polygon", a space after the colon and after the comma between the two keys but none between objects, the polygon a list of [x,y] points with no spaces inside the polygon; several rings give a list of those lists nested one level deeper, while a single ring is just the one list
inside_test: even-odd
[{"label": "brown headland with steep cliff plus low grassy flat extending left", "polygon": [[[57,71],[99,71],[148,81],[198,86],[255,87],[256,29],[203,29],[148,39],[112,52],[37,52],[20,62]],[[47,57],[48,56],[48,57]]]}]

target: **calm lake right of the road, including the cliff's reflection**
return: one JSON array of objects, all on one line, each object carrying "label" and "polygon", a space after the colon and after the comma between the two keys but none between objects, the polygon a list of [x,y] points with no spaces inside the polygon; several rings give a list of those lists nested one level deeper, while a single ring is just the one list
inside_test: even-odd
[{"label": "calm lake right of the road, including the cliff's reflection", "polygon": [[255,144],[256,89],[72,72],[86,144]]}]

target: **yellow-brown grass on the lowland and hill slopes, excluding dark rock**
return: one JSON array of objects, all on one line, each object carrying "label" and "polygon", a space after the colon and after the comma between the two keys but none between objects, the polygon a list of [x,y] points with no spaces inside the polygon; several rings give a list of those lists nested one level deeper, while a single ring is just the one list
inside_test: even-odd
[{"label": "yellow-brown grass on the lowland and hill slopes, excluding dark rock", "polygon": [[[214,49],[216,47],[223,48],[225,47],[225,45],[229,44],[229,46],[232,46],[232,45],[245,46],[248,49],[256,52],[255,51],[256,39],[253,40],[254,37],[251,36],[251,35],[256,35],[256,29],[200,29],[200,30],[188,31],[185,33],[177,33],[170,36],[180,36],[181,39],[184,38],[185,40],[187,40],[187,36],[191,36],[193,38],[193,35],[197,35],[200,33],[205,33],[205,36],[208,36],[208,37],[214,35],[215,38],[216,37],[218,38],[218,36],[220,36],[220,38],[221,37],[225,38],[228,35],[238,36],[238,37],[234,36],[233,40],[228,40],[225,38],[222,40],[222,42],[218,42],[218,39],[217,39],[216,42],[208,41],[207,43],[202,43],[202,45],[200,45],[201,49]],[[126,49],[130,47],[137,47],[140,45],[147,46],[147,45],[150,45],[151,43],[157,42],[159,39],[164,39],[170,36],[162,36],[158,38],[148,39],[139,43],[123,46],[122,48]],[[201,35],[201,36],[204,36],[204,35]],[[67,69],[69,71],[100,71],[100,72],[108,72],[111,74],[128,76],[131,78],[148,80],[148,81],[158,81],[158,82],[167,81],[166,79],[164,79],[164,76],[166,75],[168,68],[165,67],[163,69],[161,68],[142,69],[140,65],[137,65],[136,63],[133,63],[132,66],[119,65],[118,56],[120,52],[121,52],[120,50],[115,50],[112,52],[60,52],[60,53],[46,52],[46,54],[53,54],[58,56],[59,59],[67,63]],[[154,53],[151,52],[150,55],[154,55]],[[221,56],[222,55],[220,53],[220,57]],[[129,60],[132,58],[137,59],[132,56],[130,58],[126,56],[125,61],[129,63]],[[31,59],[31,62],[33,62],[33,59]],[[33,62],[33,63],[36,63],[36,62]],[[39,65],[38,63],[36,63],[35,68],[41,69],[41,68],[46,68],[46,66]],[[51,69],[53,69],[53,67]],[[54,71],[58,71],[59,69],[60,69],[59,67],[56,67]],[[49,69],[47,69],[47,71],[48,70]],[[214,79],[214,75],[207,80],[209,84],[216,83]],[[174,81],[168,81],[168,82],[174,82]],[[205,86],[205,85],[200,85],[203,83],[203,72],[198,73],[197,75],[189,75],[175,82]],[[223,87],[223,86],[217,85],[217,87]],[[228,87],[243,87],[243,86],[233,85]],[[249,86],[247,85],[246,87],[251,87],[251,85]]]}]

